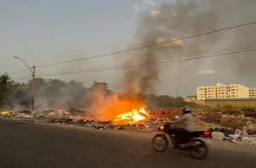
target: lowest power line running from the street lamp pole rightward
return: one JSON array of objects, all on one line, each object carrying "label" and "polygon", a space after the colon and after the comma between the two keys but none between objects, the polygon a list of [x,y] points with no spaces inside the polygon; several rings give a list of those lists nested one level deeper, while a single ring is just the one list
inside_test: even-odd
[{"label": "lowest power line running from the street lamp pole rightward", "polygon": [[38,76],[70,75],[70,74],[79,74],[79,73],[94,72],[94,71],[109,71],[109,70],[114,70],[114,69],[135,68],[135,67],[141,67],[141,66],[156,66],[159,64],[165,64],[165,63],[171,63],[171,62],[177,62],[177,61],[198,60],[198,59],[218,57],[218,56],[223,56],[223,55],[238,54],[238,53],[249,52],[249,51],[254,51],[254,50],[256,50],[256,48],[248,49],[248,50],[230,51],[230,52],[220,53],[220,54],[216,54],[216,55],[206,55],[206,56],[199,55],[199,56],[195,56],[195,57],[185,57],[185,58],[180,58],[179,60],[163,60],[163,61],[152,62],[150,64],[146,63],[146,64],[134,65],[134,66],[113,66],[113,67],[106,67],[106,68],[93,69],[93,70],[87,70],[87,71],[72,71],[72,72],[60,72],[60,73],[52,73],[52,74],[41,74]]}]

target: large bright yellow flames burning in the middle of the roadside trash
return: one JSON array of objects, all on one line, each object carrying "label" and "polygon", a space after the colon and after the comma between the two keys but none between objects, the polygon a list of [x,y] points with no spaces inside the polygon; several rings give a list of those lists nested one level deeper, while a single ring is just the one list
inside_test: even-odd
[{"label": "large bright yellow flames burning in the middle of the roadside trash", "polygon": [[115,116],[115,123],[140,123],[144,121],[149,114],[145,108],[132,109],[127,113],[120,113]]}]

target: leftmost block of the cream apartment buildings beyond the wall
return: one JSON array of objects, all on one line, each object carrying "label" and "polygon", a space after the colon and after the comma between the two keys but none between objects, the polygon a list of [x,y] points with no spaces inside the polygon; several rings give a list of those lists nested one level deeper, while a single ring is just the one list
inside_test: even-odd
[{"label": "leftmost block of the cream apartment buildings beyond the wall", "polygon": [[215,86],[201,86],[197,87],[197,100],[205,100],[216,98]]}]

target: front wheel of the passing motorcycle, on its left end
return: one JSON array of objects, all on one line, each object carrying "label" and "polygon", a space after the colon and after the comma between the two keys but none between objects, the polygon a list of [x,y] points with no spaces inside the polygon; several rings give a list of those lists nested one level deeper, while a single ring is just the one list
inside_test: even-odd
[{"label": "front wheel of the passing motorcycle, on its left end", "polygon": [[157,152],[163,152],[168,147],[168,138],[166,134],[156,134],[152,139],[152,147]]}]

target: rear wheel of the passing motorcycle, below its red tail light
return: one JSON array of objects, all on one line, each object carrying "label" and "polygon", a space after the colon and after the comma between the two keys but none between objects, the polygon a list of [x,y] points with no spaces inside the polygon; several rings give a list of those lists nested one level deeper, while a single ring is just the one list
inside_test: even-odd
[{"label": "rear wheel of the passing motorcycle, below its red tail light", "polygon": [[202,139],[191,139],[189,153],[195,159],[204,160],[208,155],[208,146]]}]

